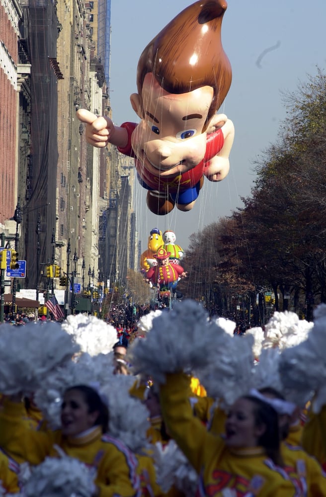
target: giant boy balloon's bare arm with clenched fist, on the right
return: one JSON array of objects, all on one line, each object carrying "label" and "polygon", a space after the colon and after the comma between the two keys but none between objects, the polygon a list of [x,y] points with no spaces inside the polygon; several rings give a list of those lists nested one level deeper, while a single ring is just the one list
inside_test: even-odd
[{"label": "giant boy balloon's bare arm with clenched fist, on the right", "polygon": [[[219,116],[216,117],[218,118]],[[221,129],[224,137],[223,147],[220,152],[210,160],[204,171],[205,176],[210,181],[221,181],[227,176],[230,169],[229,156],[235,135],[233,122],[230,119],[227,119]]]}]

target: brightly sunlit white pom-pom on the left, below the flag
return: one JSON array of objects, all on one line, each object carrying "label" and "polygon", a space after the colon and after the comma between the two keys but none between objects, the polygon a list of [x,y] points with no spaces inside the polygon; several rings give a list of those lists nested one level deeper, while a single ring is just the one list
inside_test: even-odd
[{"label": "brightly sunlit white pom-pom on the left, below the flag", "polygon": [[113,345],[117,342],[116,329],[95,316],[83,316],[82,314],[68,316],[67,320],[62,323],[62,327],[75,336],[82,352],[90,355],[107,354],[112,351]]}]

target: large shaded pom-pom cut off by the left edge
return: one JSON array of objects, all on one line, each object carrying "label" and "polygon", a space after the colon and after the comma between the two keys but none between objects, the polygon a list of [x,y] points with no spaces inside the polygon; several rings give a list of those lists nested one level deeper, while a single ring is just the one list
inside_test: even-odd
[{"label": "large shaded pom-pom cut off by the left edge", "polygon": [[0,392],[29,396],[53,370],[80,350],[59,324],[0,328]]}]

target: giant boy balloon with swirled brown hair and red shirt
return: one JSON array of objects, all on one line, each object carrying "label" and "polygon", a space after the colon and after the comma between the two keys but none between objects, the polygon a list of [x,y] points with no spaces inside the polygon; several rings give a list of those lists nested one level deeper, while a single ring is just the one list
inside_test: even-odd
[{"label": "giant boy balloon with swirled brown hair and red shirt", "polygon": [[234,126],[216,114],[232,79],[221,42],[225,0],[200,0],[180,12],[147,45],[130,97],[139,124],[115,126],[85,109],[86,139],[95,147],[112,143],[135,158],[147,204],[156,214],[174,205],[192,209],[204,176],[220,181],[229,172]]}]

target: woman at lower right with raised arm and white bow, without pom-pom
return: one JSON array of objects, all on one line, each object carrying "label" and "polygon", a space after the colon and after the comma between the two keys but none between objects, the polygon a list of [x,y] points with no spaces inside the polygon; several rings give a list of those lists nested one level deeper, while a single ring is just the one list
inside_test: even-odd
[{"label": "woman at lower right with raised arm and white bow, without pom-pom", "polygon": [[298,496],[280,466],[276,411],[252,396],[239,398],[228,412],[225,435],[209,431],[193,415],[190,378],[168,374],[160,398],[167,431],[199,475],[199,496]]}]

